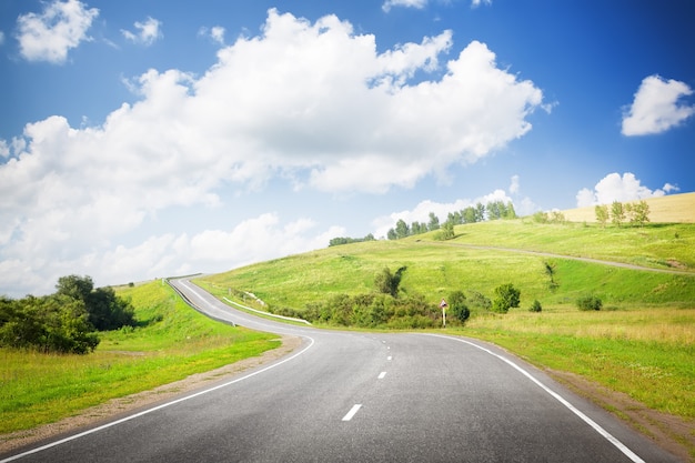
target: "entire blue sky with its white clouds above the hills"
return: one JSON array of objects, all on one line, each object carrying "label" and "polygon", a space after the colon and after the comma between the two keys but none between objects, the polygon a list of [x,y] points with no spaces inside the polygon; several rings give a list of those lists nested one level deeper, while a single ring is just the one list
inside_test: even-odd
[{"label": "entire blue sky with its white clouds above the hills", "polygon": [[695,191],[689,0],[3,0],[0,294]]}]

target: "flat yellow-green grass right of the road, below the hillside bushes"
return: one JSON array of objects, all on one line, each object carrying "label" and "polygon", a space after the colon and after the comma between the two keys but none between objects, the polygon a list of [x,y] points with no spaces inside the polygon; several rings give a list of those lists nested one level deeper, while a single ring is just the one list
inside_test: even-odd
[{"label": "flat yellow-green grass right of the road, below the hillside bushes", "polygon": [[493,342],[538,366],[582,375],[649,409],[695,419],[695,310],[513,309],[472,316],[452,332]]}]

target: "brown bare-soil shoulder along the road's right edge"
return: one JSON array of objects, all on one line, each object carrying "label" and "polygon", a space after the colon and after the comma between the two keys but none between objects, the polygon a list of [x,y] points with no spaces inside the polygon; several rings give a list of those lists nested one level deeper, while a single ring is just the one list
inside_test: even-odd
[{"label": "brown bare-soil shoulder along the road's right edge", "polygon": [[614,413],[637,432],[684,462],[695,463],[695,423],[657,412],[631,399],[573,373],[547,370],[547,373],[573,392]]}]

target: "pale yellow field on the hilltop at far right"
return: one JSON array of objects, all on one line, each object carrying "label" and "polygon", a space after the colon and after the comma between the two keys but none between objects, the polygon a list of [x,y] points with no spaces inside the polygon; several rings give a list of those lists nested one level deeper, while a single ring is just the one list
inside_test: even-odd
[{"label": "pale yellow field on the hilltop at far right", "polygon": [[[695,193],[668,194],[645,200],[652,223],[695,223]],[[636,202],[636,201],[635,201]],[[611,204],[608,204],[608,209]],[[571,222],[596,222],[595,207],[563,211]]]}]

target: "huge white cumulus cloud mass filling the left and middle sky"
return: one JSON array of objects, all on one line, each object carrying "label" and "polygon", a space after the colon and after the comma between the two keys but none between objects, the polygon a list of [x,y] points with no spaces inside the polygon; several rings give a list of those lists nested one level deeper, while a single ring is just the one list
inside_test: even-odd
[{"label": "huge white cumulus cloud mass filling the left and middle sky", "polygon": [[[0,281],[11,285],[20,272],[52,284],[80,269],[119,281],[131,265],[119,260],[135,254],[141,270],[180,270],[183,259],[161,250],[234,236],[154,236],[147,252],[119,243],[159,211],[223,207],[222,189],[282,178],[319,192],[381,193],[476,162],[531,130],[541,90],[498,69],[480,42],[442,63],[452,47],[444,31],[377,53],[373,36],[334,16],[311,23],[271,10],[260,36],[219,50],[203,76],[172,69],[132,79],[139,101],[100,125],[72,128],[61,115],[27,124],[0,144]],[[443,77],[426,79],[443,67]],[[264,220],[269,232],[279,227]],[[314,233],[324,232],[299,228],[292,249]],[[255,259],[253,249],[215,255],[232,266]]]}]

